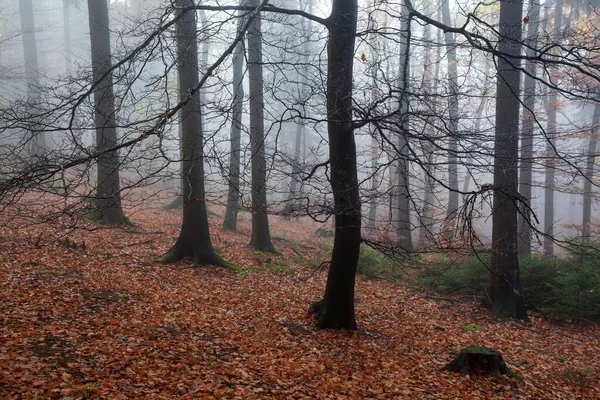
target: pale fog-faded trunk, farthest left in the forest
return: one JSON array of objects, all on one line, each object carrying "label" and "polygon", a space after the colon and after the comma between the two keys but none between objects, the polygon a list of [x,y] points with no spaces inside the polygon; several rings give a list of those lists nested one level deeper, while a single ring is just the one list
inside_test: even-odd
[{"label": "pale fog-faded trunk, farthest left in the forest", "polygon": [[[23,36],[23,55],[25,61],[25,78],[27,80],[27,101],[35,108],[39,101],[40,71],[37,57],[37,42],[35,40],[35,22],[33,19],[32,0],[19,0],[19,14],[21,16],[21,33]],[[46,152],[46,135],[40,131],[40,126],[35,122],[37,117],[32,116],[31,129],[27,137],[27,151],[29,156],[37,157]]]}]

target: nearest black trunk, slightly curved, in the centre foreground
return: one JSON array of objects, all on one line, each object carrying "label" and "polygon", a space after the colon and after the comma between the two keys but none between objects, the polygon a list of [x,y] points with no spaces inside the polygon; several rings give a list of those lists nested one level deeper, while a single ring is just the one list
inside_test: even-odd
[{"label": "nearest black trunk, slightly curved, in the centre foreground", "polygon": [[334,0],[328,25],[327,130],[335,236],[318,328],[356,329],[354,281],[361,207],[352,124],[352,70],[357,13],[357,0]]}]

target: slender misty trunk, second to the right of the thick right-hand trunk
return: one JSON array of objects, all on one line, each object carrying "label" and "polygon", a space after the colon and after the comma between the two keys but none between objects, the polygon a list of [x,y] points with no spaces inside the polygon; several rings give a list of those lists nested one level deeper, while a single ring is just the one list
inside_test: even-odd
[{"label": "slender misty trunk, second to the right of the thick right-hand trunk", "polygon": [[[562,2],[557,1],[554,9],[553,40],[558,40],[562,25]],[[550,69],[552,73],[552,69]],[[556,175],[555,140],[556,140],[556,107],[558,93],[550,89],[550,96],[546,109],[548,113],[548,128],[546,129],[546,177],[544,180],[544,253],[554,256],[554,188]]]}]

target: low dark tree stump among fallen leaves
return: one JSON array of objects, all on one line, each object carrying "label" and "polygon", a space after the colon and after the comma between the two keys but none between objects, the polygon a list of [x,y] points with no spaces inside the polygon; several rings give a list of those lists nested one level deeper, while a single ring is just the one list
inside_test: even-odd
[{"label": "low dark tree stump among fallen leaves", "polygon": [[461,374],[496,375],[510,374],[502,354],[487,347],[469,345],[462,349],[454,360],[448,363],[444,371]]}]

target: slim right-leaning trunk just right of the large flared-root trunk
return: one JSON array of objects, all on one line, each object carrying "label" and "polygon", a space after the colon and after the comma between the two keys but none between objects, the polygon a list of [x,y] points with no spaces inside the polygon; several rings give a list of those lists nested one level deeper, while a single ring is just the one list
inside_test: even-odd
[{"label": "slim right-leaning trunk just right of the large flared-root trunk", "polygon": [[[241,12],[238,31],[242,28]],[[237,215],[240,201],[240,142],[242,133],[242,108],[244,102],[244,41],[241,40],[233,51],[233,106],[231,121],[231,147],[229,153],[229,176],[227,190],[227,207],[223,228],[237,230]]]}]

